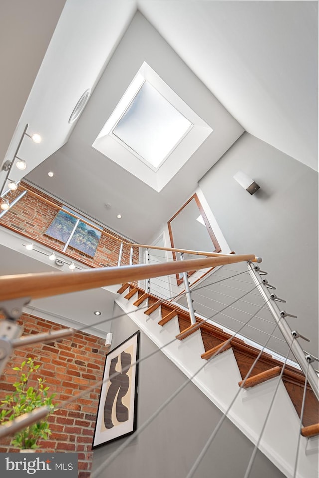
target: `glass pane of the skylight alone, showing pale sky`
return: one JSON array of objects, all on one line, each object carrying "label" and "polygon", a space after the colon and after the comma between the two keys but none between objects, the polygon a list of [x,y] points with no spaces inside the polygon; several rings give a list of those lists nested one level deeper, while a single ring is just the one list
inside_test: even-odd
[{"label": "glass pane of the skylight alone, showing pale sky", "polygon": [[145,81],[112,133],[157,169],[191,127],[192,123]]}]

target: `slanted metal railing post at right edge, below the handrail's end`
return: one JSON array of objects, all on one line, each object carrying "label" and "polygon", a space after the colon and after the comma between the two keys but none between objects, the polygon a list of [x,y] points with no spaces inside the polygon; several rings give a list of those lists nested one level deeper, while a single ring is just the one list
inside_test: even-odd
[{"label": "slanted metal railing post at right edge, below the handrail's end", "polygon": [[[258,271],[255,269],[255,266],[251,262],[248,262],[248,270],[261,296],[266,302],[266,305],[271,315],[273,316],[278,326],[278,329],[283,334],[286,342],[290,345],[294,335],[293,335],[293,331],[291,330],[287,321],[285,320],[285,316],[289,314],[286,314],[285,311],[279,309],[276,303],[276,299],[271,297],[271,293],[269,292],[267,286],[262,282],[263,279],[261,278],[260,274],[258,273]],[[299,363],[300,368],[302,369],[304,375],[306,375],[308,360],[306,359],[305,352],[303,351],[302,347],[299,345],[296,339],[292,343],[291,351],[294,354],[297,362]],[[316,395],[317,400],[319,401],[319,377],[312,366],[309,366],[308,368],[308,382],[314,394]]]}]

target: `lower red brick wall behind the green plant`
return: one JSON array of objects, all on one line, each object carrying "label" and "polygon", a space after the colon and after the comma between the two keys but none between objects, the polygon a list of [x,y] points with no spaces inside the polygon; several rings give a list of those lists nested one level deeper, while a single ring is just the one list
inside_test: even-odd
[{"label": "lower red brick wall behind the green plant", "polygon": [[[24,325],[24,334],[49,332],[63,328],[53,322],[23,314],[19,324]],[[37,358],[42,364],[34,377],[44,377],[49,393],[56,393],[53,403],[61,403],[76,396],[98,380],[102,379],[106,349],[104,340],[84,332],[76,332],[65,338],[47,344],[38,344],[23,349],[15,349],[0,382],[0,399],[14,390],[12,384],[17,373],[12,367],[21,365],[25,358]],[[33,385],[30,382],[30,385]],[[92,438],[98,407],[100,385],[88,396],[54,412],[49,417],[52,434],[48,440],[40,442],[43,452],[78,453],[79,478],[88,478],[92,463]],[[10,438],[0,440],[0,452],[16,452],[11,447]]]}]

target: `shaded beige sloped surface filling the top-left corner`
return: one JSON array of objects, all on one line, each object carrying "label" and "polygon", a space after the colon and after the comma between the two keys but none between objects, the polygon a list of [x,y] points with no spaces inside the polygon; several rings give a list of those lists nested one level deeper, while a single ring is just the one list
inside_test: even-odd
[{"label": "shaded beige sloped surface filling the top-left corner", "polygon": [[1,164],[65,1],[4,0],[1,2]]}]

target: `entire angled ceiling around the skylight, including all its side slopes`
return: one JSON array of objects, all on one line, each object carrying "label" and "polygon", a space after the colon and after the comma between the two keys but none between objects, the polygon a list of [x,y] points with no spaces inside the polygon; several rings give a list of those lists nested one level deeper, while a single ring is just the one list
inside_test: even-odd
[{"label": "entire angled ceiling around the skylight, including all its side slopes", "polygon": [[[146,243],[244,130],[317,169],[317,6],[317,1],[29,0],[27,6],[25,0],[6,1],[0,25],[2,160],[13,158],[29,123],[29,132],[39,132],[43,141],[23,140],[19,155],[28,162],[27,179]],[[142,15],[130,25],[137,8],[158,33]],[[144,60],[214,129],[160,194],[91,147]],[[69,125],[87,88],[93,91],[89,102]],[[52,179],[49,170],[55,172]],[[10,177],[20,179],[19,174],[12,170]],[[0,188],[4,179],[0,171]],[[57,314],[68,316],[71,309],[66,304]]]}]

